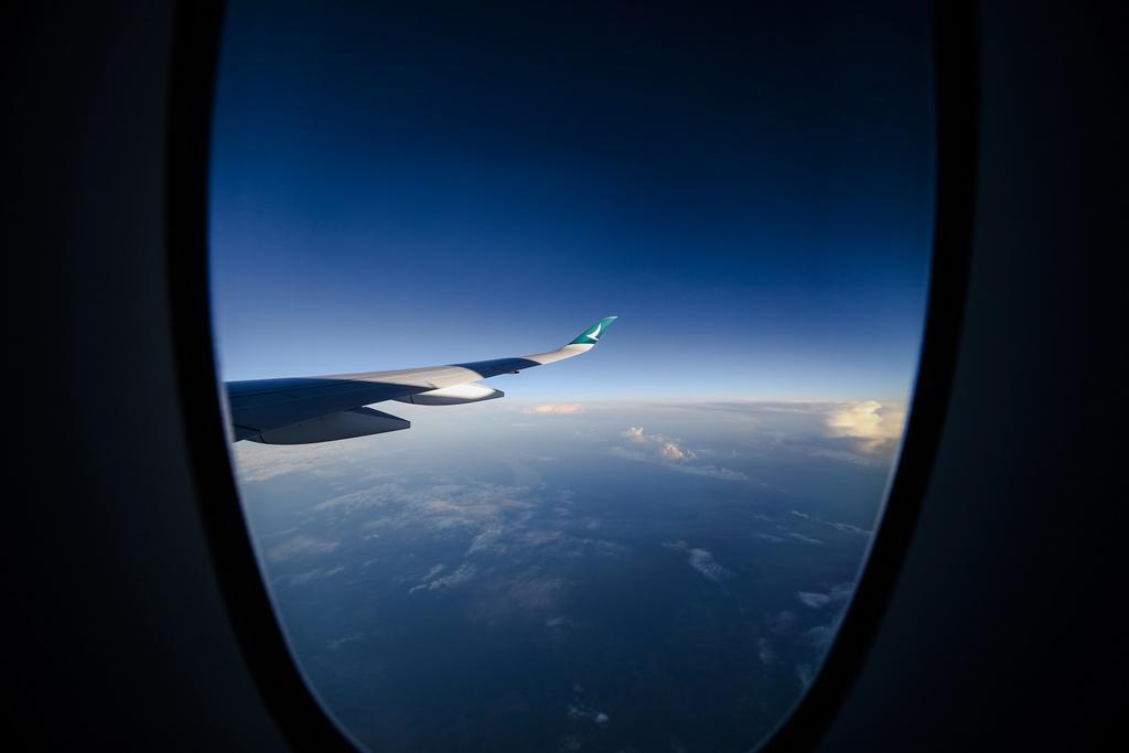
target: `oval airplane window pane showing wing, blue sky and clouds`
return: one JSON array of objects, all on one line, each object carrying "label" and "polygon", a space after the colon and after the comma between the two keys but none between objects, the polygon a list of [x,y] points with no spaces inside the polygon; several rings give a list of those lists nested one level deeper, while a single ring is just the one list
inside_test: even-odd
[{"label": "oval airplane window pane showing wing, blue sky and clouds", "polygon": [[749,751],[812,684],[933,229],[928,8],[863,6],[228,3],[231,453],[357,745]]}]

